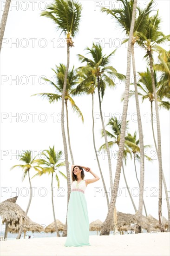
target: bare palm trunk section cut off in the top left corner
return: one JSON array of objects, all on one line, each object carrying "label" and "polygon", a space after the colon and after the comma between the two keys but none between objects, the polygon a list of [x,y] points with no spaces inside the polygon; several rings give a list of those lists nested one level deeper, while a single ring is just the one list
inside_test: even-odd
[{"label": "bare palm trunk section cut off in the top left corner", "polygon": [[7,23],[7,17],[8,17],[8,13],[9,13],[10,4],[11,4],[11,0],[6,0],[4,12],[2,14],[2,19],[0,22],[0,51],[1,51],[1,47],[2,47],[2,40],[4,37],[4,32],[5,32],[5,27],[6,27],[6,23]]}]

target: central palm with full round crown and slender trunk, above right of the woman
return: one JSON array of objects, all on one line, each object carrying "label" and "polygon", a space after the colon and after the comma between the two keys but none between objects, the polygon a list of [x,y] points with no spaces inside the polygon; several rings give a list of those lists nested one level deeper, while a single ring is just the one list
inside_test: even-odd
[{"label": "central palm with full round crown and slender trunk, above right of the woman", "polygon": [[[109,164],[110,184],[111,184],[111,188],[112,188],[113,180],[112,180],[112,172],[111,172],[111,156],[110,156],[110,152],[109,152],[107,135],[105,132],[105,124],[104,124],[104,120],[103,120],[101,98],[103,98],[103,96],[105,94],[105,88],[107,85],[110,87],[115,86],[115,83],[112,81],[111,77],[109,77],[108,75],[111,75],[112,77],[116,76],[120,80],[124,80],[124,75],[119,74],[114,67],[108,66],[110,63],[111,56],[115,53],[115,51],[111,52],[111,54],[106,56],[102,52],[102,47],[98,44],[95,45],[94,43],[92,45],[92,49],[87,47],[86,50],[88,51],[88,54],[91,54],[92,59],[88,59],[85,56],[80,55],[80,54],[78,54],[78,56],[79,56],[79,60],[81,62],[87,63],[87,67],[81,67],[82,71],[86,70],[86,69],[91,70],[91,76],[94,77],[95,83],[97,84],[100,118],[101,118],[101,122],[102,122],[102,128],[104,130],[106,151],[107,151],[108,164]],[[88,81],[89,81],[89,79],[88,79]],[[100,96],[100,94],[101,94],[101,96]]]}]

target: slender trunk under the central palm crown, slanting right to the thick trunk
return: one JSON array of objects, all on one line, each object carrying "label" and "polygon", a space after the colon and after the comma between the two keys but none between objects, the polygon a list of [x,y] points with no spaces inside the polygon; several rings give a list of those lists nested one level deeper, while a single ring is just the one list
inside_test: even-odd
[{"label": "slender trunk under the central palm crown, slanting right to the thick trunk", "polygon": [[106,135],[106,131],[105,131],[105,124],[103,121],[103,113],[102,113],[101,98],[100,98],[99,76],[98,76],[98,101],[99,101],[100,117],[101,117],[101,121],[102,121],[102,128],[103,128],[104,137],[105,137],[105,146],[106,146],[107,158],[108,158],[108,163],[109,163],[110,184],[111,184],[111,189],[112,189],[113,188],[113,178],[112,178],[112,172],[111,172],[111,156],[110,156],[110,150],[109,150],[109,145],[108,145],[108,141],[107,141],[107,135]]}]

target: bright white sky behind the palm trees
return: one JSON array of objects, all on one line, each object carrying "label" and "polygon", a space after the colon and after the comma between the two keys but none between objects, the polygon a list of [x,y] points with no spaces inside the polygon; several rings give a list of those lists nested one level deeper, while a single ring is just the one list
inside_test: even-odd
[{"label": "bright white sky behind the palm trees", "polygon": [[[1,1],[1,5],[3,4]],[[34,2],[34,10],[33,9]],[[11,10],[8,14],[7,26],[4,34],[6,44],[1,49],[1,115],[7,117],[1,119],[1,202],[9,197],[19,195],[17,203],[20,207],[26,210],[27,203],[29,201],[29,195],[26,194],[26,190],[22,188],[29,188],[28,177],[24,182],[21,182],[22,170],[19,168],[10,171],[10,168],[19,164],[16,155],[21,150],[36,150],[37,154],[40,150],[47,149],[49,146],[55,145],[56,150],[63,150],[63,141],[61,135],[61,123],[59,122],[61,104],[49,104],[46,100],[42,100],[40,97],[30,97],[32,94],[41,92],[54,92],[52,86],[49,84],[42,85],[41,76],[46,76],[48,79],[52,79],[53,71],[51,68],[55,68],[55,65],[59,63],[66,64],[66,46],[64,36],[56,32],[55,25],[52,20],[45,17],[40,17],[41,10],[45,8],[45,3],[50,3],[51,0],[46,1],[12,1]],[[141,7],[147,1],[138,1]],[[119,46],[119,43],[125,38],[124,33],[117,27],[114,20],[111,20],[110,16],[106,16],[105,13],[100,12],[99,5],[106,6],[110,4],[114,7],[115,1],[93,1],[82,0],[83,6],[82,19],[80,22],[79,33],[73,40],[75,47],[70,50],[70,67],[81,66],[76,54],[85,55],[85,47],[92,47],[92,42],[99,40],[104,48],[105,54],[110,54],[115,48],[117,52],[111,60],[111,65],[117,69],[119,73],[126,74],[126,61],[127,61],[127,47],[125,45]],[[17,7],[14,5],[17,4]],[[115,5],[115,7],[117,7]],[[168,0],[155,1],[155,10],[159,9],[159,14],[162,17],[162,30],[164,34],[170,32],[170,20],[169,9],[170,2]],[[1,6],[1,10],[2,10]],[[96,9],[96,10],[95,10]],[[35,40],[33,46],[32,42]],[[17,45],[13,42],[17,41]],[[111,45],[105,42],[110,42]],[[46,47],[44,43],[46,42]],[[27,45],[26,45],[27,44]],[[54,45],[55,47],[53,47]],[[25,47],[26,46],[26,47]],[[115,47],[114,47],[115,46]],[[163,45],[168,49],[168,44]],[[146,70],[146,62],[143,59],[145,53],[140,48],[135,49],[136,54],[136,69],[137,71]],[[132,74],[132,73],[131,73]],[[35,80],[33,83],[33,76]],[[17,81],[13,81],[17,79]],[[133,86],[131,86],[133,89]],[[107,88],[105,91],[105,97],[102,102],[102,111],[105,117],[122,115],[123,103],[120,102],[121,95],[124,92],[124,84],[121,83],[117,88]],[[99,174],[98,164],[94,159],[94,150],[92,144],[92,99],[91,96],[76,97],[76,104],[84,115],[84,125],[81,120],[78,119],[75,113],[69,108],[69,121],[70,121],[70,135],[72,151],[75,164],[86,165],[92,168],[92,171]],[[141,101],[140,101],[141,102]],[[144,132],[144,145],[154,144],[151,132],[150,122],[150,102],[145,101],[140,104],[141,117],[143,122]],[[98,97],[95,96],[95,115],[98,115]],[[135,122],[136,107],[135,99],[129,101],[129,132],[133,134],[137,130],[137,122]],[[155,112],[155,109],[154,109]],[[7,114],[3,114],[7,113]],[[23,113],[26,113],[23,114]],[[33,122],[32,115],[35,114],[35,120]],[[43,122],[45,115],[46,121]],[[55,114],[53,114],[55,113]],[[109,114],[110,113],[110,114]],[[56,116],[56,121],[53,121],[51,115]],[[18,120],[15,118],[10,119],[12,116],[18,115]],[[27,117],[27,121],[26,120]],[[134,118],[134,119],[133,119]],[[148,119],[148,120],[147,120]],[[108,118],[105,118],[105,124],[108,122]],[[170,118],[168,111],[160,111],[161,121],[161,136],[162,136],[162,158],[163,158],[163,171],[166,177],[167,187],[170,188]],[[66,123],[65,123],[66,125]],[[99,148],[104,139],[101,138],[100,129],[101,120],[97,119],[95,122],[95,138],[96,145]],[[156,123],[155,123],[156,128]],[[111,149],[111,163],[112,163],[112,175],[114,179],[116,163],[114,153],[118,148]],[[154,157],[154,146],[148,150],[148,155]],[[63,161],[63,160],[62,160]],[[71,162],[71,158],[69,157]],[[107,189],[109,190],[109,171],[107,156],[102,153],[99,156],[103,175]],[[65,167],[61,170],[66,174]],[[137,163],[138,177],[140,172],[140,165]],[[35,174],[34,170],[31,170],[31,176]],[[130,159],[127,161],[125,167],[125,174],[130,189],[138,187],[135,177],[134,164]],[[85,173],[85,179],[93,178],[91,174]],[[53,222],[52,204],[51,204],[51,177],[44,175],[36,177],[32,180],[32,186],[36,187],[35,195],[32,199],[31,207],[28,212],[28,216],[39,224],[48,225]],[[56,186],[56,195],[54,197],[55,214],[56,218],[65,223],[66,207],[67,207],[67,185],[66,180],[60,178],[60,187],[65,189],[62,195],[59,196],[57,191],[57,182],[54,181]],[[85,197],[88,206],[89,221],[92,222],[96,219],[105,221],[107,215],[106,198],[102,195],[102,192],[94,195],[95,188],[101,188],[103,190],[102,180],[100,179],[96,183],[92,183],[87,186],[85,191]],[[120,176],[119,188],[122,194],[118,196],[116,202],[116,208],[118,211],[124,213],[134,214],[134,209],[130,201],[129,195],[126,196],[123,187],[125,182],[123,174]],[[7,190],[6,190],[7,188]],[[44,190],[40,188],[46,188],[46,196]],[[152,163],[145,161],[145,182],[144,182],[144,202],[148,214],[158,218],[158,162],[153,160]],[[7,191],[2,194],[3,191]],[[13,192],[18,189],[19,192]],[[163,188],[164,189],[164,188]],[[170,190],[170,189],[169,189]],[[39,191],[39,192],[38,192]],[[154,194],[155,192],[155,194]],[[134,190],[136,195],[137,190]],[[138,196],[133,196],[136,207],[138,208]],[[165,194],[163,190],[163,216],[168,218],[168,212],[166,207]]]}]

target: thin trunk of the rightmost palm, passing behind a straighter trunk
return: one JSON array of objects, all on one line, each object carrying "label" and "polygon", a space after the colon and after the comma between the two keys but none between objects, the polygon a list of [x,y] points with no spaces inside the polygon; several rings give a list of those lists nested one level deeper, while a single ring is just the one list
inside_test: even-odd
[{"label": "thin trunk of the rightmost palm, passing behind a straighter trunk", "polygon": [[[153,140],[155,143],[155,148],[157,151],[157,142],[155,139],[155,132],[154,132],[154,127],[153,127],[153,106],[152,106],[152,101],[151,101],[151,123],[152,123],[152,133],[153,133]],[[170,232],[170,201],[169,201],[169,196],[168,196],[168,189],[166,186],[166,181],[165,181],[165,177],[163,174],[163,169],[162,169],[162,179],[163,179],[163,186],[164,186],[164,190],[165,190],[165,196],[166,196],[166,204],[167,204],[167,208],[168,208],[168,232]]]}]

